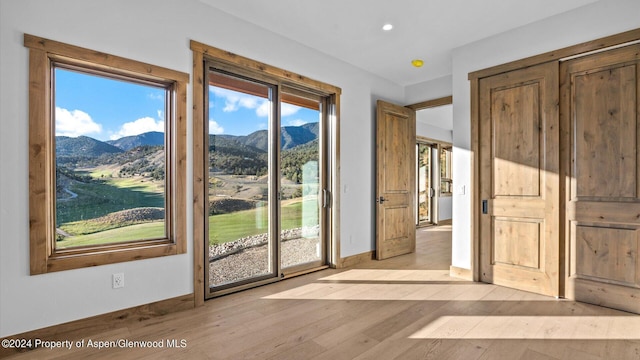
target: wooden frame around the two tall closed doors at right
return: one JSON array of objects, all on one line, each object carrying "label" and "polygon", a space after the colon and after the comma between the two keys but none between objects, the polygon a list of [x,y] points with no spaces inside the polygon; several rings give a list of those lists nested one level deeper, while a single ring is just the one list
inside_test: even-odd
[{"label": "wooden frame around the two tall closed doors at right", "polygon": [[[479,82],[480,79],[498,75],[501,73],[509,72],[512,70],[522,69],[538,64],[542,64],[550,61],[557,61],[558,66],[563,59],[575,57],[579,55],[586,55],[591,52],[603,51],[604,49],[626,45],[628,43],[640,41],[640,29],[629,30],[620,34],[606,36],[592,41],[583,42],[577,45],[568,46],[562,49],[549,51],[540,55],[531,56],[521,60],[509,62],[502,65],[497,65],[483,70],[478,70],[469,73],[468,79],[471,88],[471,176],[470,183],[470,198],[471,198],[471,275],[473,281],[480,281],[480,216],[481,216],[481,199],[480,199],[480,159],[477,154],[480,149],[480,103],[479,103]],[[560,99],[558,99],[559,101]],[[567,129],[560,129],[561,135],[564,136],[564,132]],[[560,162],[560,176],[566,178],[568,176],[568,169],[564,161],[566,157],[567,149],[562,146],[560,148],[561,162]],[[563,157],[564,156],[564,157]],[[565,181],[561,180],[560,198],[565,198],[566,191]],[[564,201],[560,204],[560,261],[561,261],[561,281],[564,281],[566,259],[565,259],[565,238],[566,231],[564,229],[565,219],[565,205]],[[564,289],[561,289],[561,292]]]}]

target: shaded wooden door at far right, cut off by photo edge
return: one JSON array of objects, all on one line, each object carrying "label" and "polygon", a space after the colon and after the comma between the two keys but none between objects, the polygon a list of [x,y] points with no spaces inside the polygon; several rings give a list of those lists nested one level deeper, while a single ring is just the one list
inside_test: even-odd
[{"label": "shaded wooden door at far right, cut off by photo edge", "polygon": [[567,297],[640,313],[640,45],[562,64]]}]

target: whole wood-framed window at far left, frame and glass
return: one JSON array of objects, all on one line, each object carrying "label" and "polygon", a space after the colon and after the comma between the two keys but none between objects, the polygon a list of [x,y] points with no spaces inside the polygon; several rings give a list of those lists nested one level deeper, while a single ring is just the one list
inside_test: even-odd
[{"label": "whole wood-framed window at far left, frame and glass", "polygon": [[31,274],[186,252],[186,85],[25,35]]}]

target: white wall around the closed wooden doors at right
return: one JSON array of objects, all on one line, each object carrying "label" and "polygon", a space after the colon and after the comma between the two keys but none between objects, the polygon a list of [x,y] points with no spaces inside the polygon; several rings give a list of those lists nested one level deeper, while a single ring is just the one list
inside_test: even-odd
[{"label": "white wall around the closed wooden doors at right", "polygon": [[576,10],[480,40],[453,52],[453,196],[452,265],[471,266],[470,88],[469,72],[640,28],[640,1],[601,0]]}]

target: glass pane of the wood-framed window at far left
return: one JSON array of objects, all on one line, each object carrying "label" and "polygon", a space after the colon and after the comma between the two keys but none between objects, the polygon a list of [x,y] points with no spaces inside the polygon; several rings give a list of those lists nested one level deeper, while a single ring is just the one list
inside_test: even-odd
[{"label": "glass pane of the wood-framed window at far left", "polygon": [[54,68],[57,249],[163,239],[167,89]]}]

